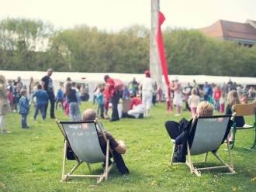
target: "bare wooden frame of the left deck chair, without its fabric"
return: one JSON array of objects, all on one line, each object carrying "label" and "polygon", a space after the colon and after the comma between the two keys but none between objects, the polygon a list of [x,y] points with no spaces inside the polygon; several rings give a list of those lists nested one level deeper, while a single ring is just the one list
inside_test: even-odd
[{"label": "bare wooden frame of the left deck chair, without its fabric", "polygon": [[[67,146],[70,146],[70,142],[67,139],[67,135],[64,131],[64,128],[62,126],[62,123],[74,123],[74,124],[78,124],[78,123],[86,123],[86,122],[60,122],[59,120],[55,119],[55,122],[57,123],[57,127],[60,129],[62,135],[64,136],[64,156],[63,156],[63,166],[62,166],[62,177],[61,177],[61,182],[67,182],[67,178],[68,177],[98,177],[97,179],[97,183],[100,183],[102,180],[107,180],[108,179],[108,175],[109,175],[109,171],[112,169],[112,166],[115,164],[115,161],[112,162],[112,164],[109,166],[109,152],[112,154],[112,149],[109,146],[109,139],[106,138],[106,135],[103,131],[102,125],[98,122],[97,118],[95,118],[94,121],[87,121],[87,122],[94,122],[95,125],[98,125],[100,131],[102,132],[102,135],[106,141],[106,168],[104,170],[104,173],[100,174],[100,175],[75,175],[73,174],[75,170],[78,169],[78,167],[81,165],[81,163],[83,163],[84,161],[79,159],[78,156],[76,156],[74,154],[74,158],[77,162],[77,164],[68,172],[66,173],[66,163],[67,163]],[[112,154],[112,158],[113,154]],[[115,160],[115,159],[114,159]],[[85,162],[86,163],[86,162]],[[86,163],[88,166],[88,170],[91,171],[91,166],[89,163]]]}]

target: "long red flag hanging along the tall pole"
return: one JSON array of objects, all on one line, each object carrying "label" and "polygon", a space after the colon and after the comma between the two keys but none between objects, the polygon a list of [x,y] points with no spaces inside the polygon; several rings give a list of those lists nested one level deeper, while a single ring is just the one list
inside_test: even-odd
[{"label": "long red flag hanging along the tall pole", "polygon": [[166,60],[165,60],[165,54],[164,54],[164,42],[163,42],[163,36],[162,36],[162,32],[161,32],[161,25],[165,20],[165,17],[163,15],[163,13],[158,12],[159,13],[159,18],[158,18],[158,27],[157,27],[157,47],[158,47],[158,52],[159,52],[159,57],[161,60],[161,67],[162,67],[162,71],[164,74],[164,79],[165,79],[165,83],[167,84],[168,87],[168,98],[169,98],[169,102],[170,102],[170,111],[172,111],[172,105],[171,105],[171,91],[169,91],[169,85],[170,82],[168,80],[168,70],[167,70],[167,65],[166,65]]}]

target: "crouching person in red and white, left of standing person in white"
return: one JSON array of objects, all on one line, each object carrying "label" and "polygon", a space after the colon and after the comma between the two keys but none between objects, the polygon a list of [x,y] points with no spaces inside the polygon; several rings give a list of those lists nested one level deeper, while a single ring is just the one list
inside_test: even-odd
[{"label": "crouching person in red and white, left of standing person in white", "polygon": [[130,110],[128,111],[128,115],[133,116],[134,118],[143,118],[143,114],[146,110],[142,104],[142,101],[133,93],[130,93],[130,98]]}]

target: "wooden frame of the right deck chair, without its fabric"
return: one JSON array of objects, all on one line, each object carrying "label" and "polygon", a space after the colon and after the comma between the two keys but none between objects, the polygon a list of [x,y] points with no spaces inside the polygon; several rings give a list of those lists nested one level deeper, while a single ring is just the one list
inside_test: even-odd
[{"label": "wooden frame of the right deck chair, without its fabric", "polygon": [[[202,116],[200,118],[222,118],[223,116],[227,116],[228,118],[231,117],[231,115],[216,115],[216,116]],[[193,119],[192,121],[192,125],[191,125],[191,129],[190,129],[190,132],[192,129],[195,129],[194,128],[194,125],[195,125],[195,121],[198,120],[198,116],[196,115],[195,118]],[[226,129],[227,130],[227,129]],[[195,130],[196,132],[196,130]],[[224,135],[223,135],[224,137]],[[227,139],[226,139],[227,140]],[[172,165],[174,162],[174,156],[175,156],[175,139],[171,139],[172,142],[174,142],[174,146],[173,146],[173,150],[172,150],[172,155],[171,155],[171,161],[170,161],[170,164]],[[193,141],[194,142],[194,141]],[[220,144],[221,145],[221,144]],[[228,150],[228,153],[229,153],[229,161],[230,161],[230,164],[226,163],[223,159],[220,158],[220,156],[218,156],[216,153],[217,153],[217,149],[216,150],[213,150],[213,151],[209,151],[213,154],[213,156],[216,157],[216,159],[218,159],[220,161],[220,163],[222,163],[223,165],[222,166],[209,166],[209,167],[202,167],[202,168],[196,168],[194,166],[194,163],[202,163],[202,162],[206,162],[206,159],[208,157],[208,153],[209,152],[206,152],[206,155],[203,159],[203,161],[201,162],[192,162],[192,154],[191,154],[191,149],[189,147],[189,141],[187,141],[187,152],[188,152],[188,159],[189,160],[186,160],[185,164],[187,166],[189,166],[189,169],[190,169],[190,173],[195,173],[196,176],[198,177],[201,177],[201,170],[214,170],[214,169],[223,169],[223,168],[227,168],[230,173],[235,173],[234,171],[234,161],[233,161],[233,158],[232,158],[232,154],[231,154],[231,150],[230,150],[230,144],[229,142],[227,142],[227,150]],[[200,153],[200,154],[203,154],[203,153]]]}]

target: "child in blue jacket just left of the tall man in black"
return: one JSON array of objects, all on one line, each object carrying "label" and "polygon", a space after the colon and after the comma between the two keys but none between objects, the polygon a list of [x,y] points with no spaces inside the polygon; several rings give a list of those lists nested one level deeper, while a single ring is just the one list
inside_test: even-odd
[{"label": "child in blue jacket just left of the tall man in black", "polygon": [[33,120],[36,119],[36,116],[38,114],[38,111],[40,110],[40,113],[42,115],[43,121],[45,120],[45,105],[48,103],[48,94],[47,91],[42,90],[42,85],[37,85],[37,91],[33,94],[33,98],[36,97],[36,111],[33,116]]}]

